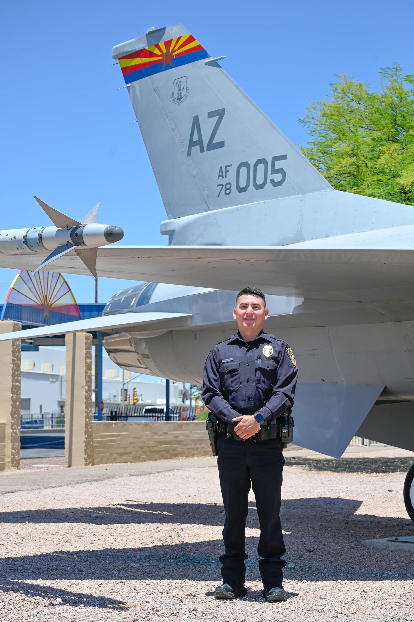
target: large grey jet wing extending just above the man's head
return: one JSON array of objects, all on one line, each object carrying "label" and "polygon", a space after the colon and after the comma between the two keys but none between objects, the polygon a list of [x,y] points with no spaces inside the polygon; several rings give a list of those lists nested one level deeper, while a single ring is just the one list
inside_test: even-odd
[{"label": "large grey jet wing extending just above the man's head", "polygon": [[[32,270],[39,255],[0,254],[0,267]],[[100,277],[362,302],[407,300],[413,267],[414,225],[289,246],[106,246],[96,262]],[[88,274],[74,252],[53,269]]]}]

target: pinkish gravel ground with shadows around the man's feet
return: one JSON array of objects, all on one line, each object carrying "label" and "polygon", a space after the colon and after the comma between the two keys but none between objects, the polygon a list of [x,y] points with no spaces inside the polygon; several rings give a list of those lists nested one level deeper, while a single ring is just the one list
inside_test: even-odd
[{"label": "pinkish gravel ground with shadows around the man's feet", "polygon": [[214,600],[224,518],[218,474],[191,466],[3,494],[1,621],[414,621],[413,554],[361,545],[414,534],[402,499],[413,454],[384,449],[336,461],[292,452],[286,459],[286,603],[262,600],[253,495],[249,592]]}]

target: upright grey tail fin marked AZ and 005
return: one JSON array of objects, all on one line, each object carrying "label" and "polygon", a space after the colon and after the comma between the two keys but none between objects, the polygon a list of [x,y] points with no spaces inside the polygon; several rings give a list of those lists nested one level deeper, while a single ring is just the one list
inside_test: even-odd
[{"label": "upright grey tail fin marked AZ and 005", "polygon": [[168,218],[331,189],[182,24],[113,57]]}]

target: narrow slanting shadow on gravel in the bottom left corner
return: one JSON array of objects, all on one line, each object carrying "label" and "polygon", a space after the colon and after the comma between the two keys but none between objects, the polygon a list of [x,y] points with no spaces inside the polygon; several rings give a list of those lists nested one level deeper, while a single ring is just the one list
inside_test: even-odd
[{"label": "narrow slanting shadow on gravel in the bottom left corner", "polygon": [[[37,585],[36,583],[25,583],[21,580],[0,580],[0,591],[15,592],[19,594],[25,594],[26,596],[40,596],[40,598],[47,598],[50,600],[62,598],[62,605],[69,604],[73,607],[84,605],[85,607],[99,607],[101,609],[127,609],[127,607],[121,600],[115,600],[114,598],[106,598],[104,596],[92,596],[91,594],[83,594],[81,592],[68,592],[68,590],[60,590],[58,588],[50,587],[48,585]],[[45,603],[45,607],[46,606],[47,604]],[[45,609],[45,613],[47,611],[52,613],[50,609]],[[56,608],[55,613],[60,613],[59,607]]]}]

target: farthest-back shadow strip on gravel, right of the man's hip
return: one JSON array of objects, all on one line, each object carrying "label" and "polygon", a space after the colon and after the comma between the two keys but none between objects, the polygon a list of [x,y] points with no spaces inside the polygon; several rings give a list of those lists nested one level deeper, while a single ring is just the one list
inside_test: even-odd
[{"label": "farthest-back shadow strip on gravel, right of the man's hip", "polygon": [[311,458],[285,453],[286,466],[301,466],[310,471],[331,473],[407,473],[413,465],[412,457],[402,458]]}]

